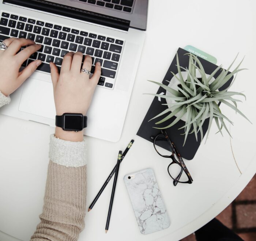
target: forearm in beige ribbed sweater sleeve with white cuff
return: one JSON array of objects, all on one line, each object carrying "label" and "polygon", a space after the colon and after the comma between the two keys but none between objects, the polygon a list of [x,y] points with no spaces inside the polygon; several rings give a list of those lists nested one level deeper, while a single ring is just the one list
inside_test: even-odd
[{"label": "forearm in beige ribbed sweater sleeve with white cuff", "polygon": [[86,205],[85,154],[84,141],[51,136],[43,213],[31,240],[78,240]]}]

